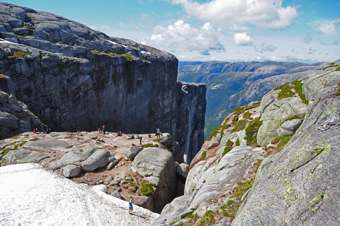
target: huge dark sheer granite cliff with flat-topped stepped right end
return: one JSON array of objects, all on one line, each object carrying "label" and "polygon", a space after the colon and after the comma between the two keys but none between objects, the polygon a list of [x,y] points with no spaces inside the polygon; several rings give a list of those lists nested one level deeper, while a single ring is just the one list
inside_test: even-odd
[{"label": "huge dark sheer granite cliff with flat-topped stepped right end", "polygon": [[160,128],[189,158],[204,143],[205,86],[176,81],[175,56],[50,13],[8,3],[0,13],[6,91],[54,131]]}]

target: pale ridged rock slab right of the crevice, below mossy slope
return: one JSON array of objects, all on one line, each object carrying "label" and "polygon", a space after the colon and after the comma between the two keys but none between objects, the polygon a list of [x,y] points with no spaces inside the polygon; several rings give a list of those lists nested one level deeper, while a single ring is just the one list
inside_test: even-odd
[{"label": "pale ridged rock slab right of the crevice, below mossy slope", "polygon": [[207,210],[215,210],[216,200],[228,195],[239,181],[254,173],[252,166],[258,158],[263,159],[262,154],[261,148],[237,146],[220,161],[219,155],[216,155],[195,163],[187,176],[184,195],[165,206],[159,218],[151,225],[170,225],[185,218],[190,212],[203,217]]}]

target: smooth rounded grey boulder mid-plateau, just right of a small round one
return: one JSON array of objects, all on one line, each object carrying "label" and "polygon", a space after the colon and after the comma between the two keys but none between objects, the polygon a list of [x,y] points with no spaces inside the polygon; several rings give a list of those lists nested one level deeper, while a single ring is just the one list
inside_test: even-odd
[{"label": "smooth rounded grey boulder mid-plateau, just right of a small round one", "polygon": [[111,153],[105,149],[98,149],[82,163],[82,170],[91,172],[105,166],[109,162]]}]

